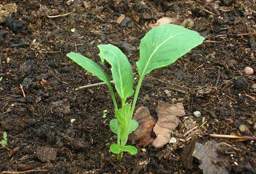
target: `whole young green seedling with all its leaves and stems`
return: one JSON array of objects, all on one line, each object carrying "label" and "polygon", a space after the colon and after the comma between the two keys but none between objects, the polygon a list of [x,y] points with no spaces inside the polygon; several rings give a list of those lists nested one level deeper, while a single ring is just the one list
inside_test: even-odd
[{"label": "whole young green seedling with all its leaves and stems", "polygon": [[[110,122],[111,131],[117,135],[117,143],[110,146],[111,152],[118,154],[122,160],[123,151],[136,154],[137,148],[126,145],[128,135],[138,127],[138,122],[132,120],[140,86],[146,74],[156,68],[161,68],[174,63],[179,57],[200,45],[205,38],[197,32],[185,29],[174,24],[165,24],[151,29],[140,42],[140,60],[136,63],[139,73],[139,81],[134,94],[134,80],[131,65],[122,51],[111,44],[98,45],[101,62],[106,60],[111,65],[112,78],[119,97],[120,107],[116,104],[116,98],[109,77],[93,60],[74,52],[67,57],[75,61],[79,66],[94,74],[105,82],[109,88],[115,107],[115,119]],[[126,103],[128,97],[134,94],[132,103]]]}]

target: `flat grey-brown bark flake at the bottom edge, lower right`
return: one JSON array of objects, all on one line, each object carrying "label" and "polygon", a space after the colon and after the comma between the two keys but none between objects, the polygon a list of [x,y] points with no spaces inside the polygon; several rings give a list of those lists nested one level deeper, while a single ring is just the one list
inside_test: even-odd
[{"label": "flat grey-brown bark flake at the bottom edge, lower right", "polygon": [[195,151],[192,157],[200,160],[198,166],[203,170],[204,174],[228,174],[229,171],[225,168],[225,164],[229,160],[228,157],[219,156],[218,150],[221,148],[220,143],[215,140],[208,141],[204,144],[195,143]]}]

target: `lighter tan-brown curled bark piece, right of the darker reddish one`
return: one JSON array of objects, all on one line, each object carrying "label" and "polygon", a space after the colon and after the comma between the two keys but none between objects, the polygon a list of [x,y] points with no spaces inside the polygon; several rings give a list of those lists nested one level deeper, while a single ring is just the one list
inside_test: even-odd
[{"label": "lighter tan-brown curled bark piece, right of the darker reddish one", "polygon": [[157,138],[152,143],[155,148],[161,148],[169,142],[172,130],[174,130],[180,122],[178,117],[184,115],[185,111],[182,103],[172,105],[163,101],[158,102],[158,120],[153,128]]}]

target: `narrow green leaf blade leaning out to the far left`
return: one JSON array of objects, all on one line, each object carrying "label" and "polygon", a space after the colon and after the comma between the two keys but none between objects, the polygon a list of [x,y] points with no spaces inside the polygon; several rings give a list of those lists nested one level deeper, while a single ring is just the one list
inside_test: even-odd
[{"label": "narrow green leaf blade leaning out to the far left", "polygon": [[86,71],[89,71],[91,74],[98,77],[100,80],[105,82],[108,87],[111,87],[110,79],[108,78],[107,74],[102,70],[102,68],[93,60],[88,59],[87,57],[82,56],[81,54],[70,52],[67,54],[71,60],[75,61],[79,66],[84,68]]}]

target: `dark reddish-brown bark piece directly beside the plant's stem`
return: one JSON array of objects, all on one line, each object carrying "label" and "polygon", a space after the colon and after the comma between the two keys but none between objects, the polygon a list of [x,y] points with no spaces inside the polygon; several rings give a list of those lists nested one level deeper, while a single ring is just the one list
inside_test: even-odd
[{"label": "dark reddish-brown bark piece directly beside the plant's stem", "polygon": [[151,144],[154,139],[150,136],[150,133],[156,123],[156,120],[151,117],[148,108],[138,108],[133,119],[139,123],[139,126],[130,134],[129,139],[131,141],[138,141],[138,143],[143,146]]}]

